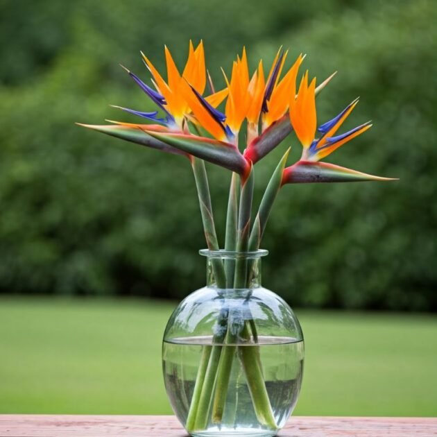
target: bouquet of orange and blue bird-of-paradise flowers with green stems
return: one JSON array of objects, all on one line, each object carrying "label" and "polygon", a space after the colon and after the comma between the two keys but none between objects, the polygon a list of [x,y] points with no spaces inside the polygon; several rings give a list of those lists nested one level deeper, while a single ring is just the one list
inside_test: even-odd
[{"label": "bouquet of orange and blue bird-of-paradise flowers with green stems", "polygon": [[[110,124],[103,126],[81,126],[180,155],[187,160],[194,173],[209,250],[218,251],[221,246],[216,235],[205,162],[232,172],[223,247],[225,251],[237,253],[259,249],[275,198],[286,185],[389,180],[320,162],[343,144],[366,132],[372,124],[368,121],[348,132],[338,133],[345,119],[358,105],[359,99],[356,98],[333,119],[317,126],[316,97],[335,73],[317,85],[316,78],[311,78],[309,72],[305,71],[297,85],[305,55],[298,55],[286,68],[289,53],[280,48],[266,76],[262,60],[250,75],[246,49],[243,49],[241,56],[237,56],[232,64],[230,76],[223,71],[224,86],[217,90],[205,68],[203,42],[196,48],[189,42],[188,58],[182,73],[165,47],[166,80],[151,60],[144,53],[141,54],[151,74],[149,85],[132,71],[123,68],[155,103],[157,110],[144,112],[117,106],[146,122],[110,121]],[[243,128],[246,135],[240,135]],[[255,166],[282,144],[293,130],[302,145],[302,156],[289,165],[289,149],[285,151],[252,219]],[[240,144],[242,137],[246,139],[243,146]],[[212,259],[212,269],[218,289],[250,288],[253,277],[250,260],[237,258],[227,262],[216,258]],[[246,317],[237,330],[226,328],[230,323],[229,311],[221,311],[216,325],[225,329],[216,329],[213,345],[234,344],[237,336],[241,341],[257,342],[256,326],[250,323],[250,317]],[[185,427],[189,431],[205,429],[208,421],[221,423],[233,353],[229,348],[205,348],[187,412]],[[257,420],[268,429],[277,429],[261,367],[257,366],[259,353],[247,349],[239,354],[239,359],[247,379],[250,379],[248,386]]]}]

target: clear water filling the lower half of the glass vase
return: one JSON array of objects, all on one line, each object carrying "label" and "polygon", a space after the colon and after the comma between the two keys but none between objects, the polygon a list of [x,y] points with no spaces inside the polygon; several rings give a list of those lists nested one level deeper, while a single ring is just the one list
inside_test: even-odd
[{"label": "clear water filling the lower half of the glass vase", "polygon": [[[284,425],[298,400],[302,381],[304,345],[290,337],[260,336],[258,343],[219,345],[233,355],[228,387],[221,409],[217,409],[217,387],[209,391],[206,413],[196,426],[187,427],[194,436],[273,436]],[[244,348],[252,348],[252,351]],[[256,350],[253,348],[257,348]],[[200,360],[212,350],[212,337],[185,337],[164,341],[163,366],[166,390],[179,420],[187,425]],[[255,352],[273,412],[274,423],[257,414],[250,393],[253,387],[242,365],[241,354]],[[223,389],[223,387],[222,387]],[[218,413],[217,413],[218,411]],[[245,432],[246,431],[246,432]]]}]

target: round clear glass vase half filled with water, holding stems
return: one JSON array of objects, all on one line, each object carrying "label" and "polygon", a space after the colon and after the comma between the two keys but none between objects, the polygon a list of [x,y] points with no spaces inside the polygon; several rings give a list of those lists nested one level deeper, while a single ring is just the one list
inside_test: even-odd
[{"label": "round clear glass vase half filled with water, holding stems", "polygon": [[166,391],[192,436],[274,436],[298,400],[302,330],[289,305],[261,285],[267,253],[200,250],[207,286],[167,323]]}]

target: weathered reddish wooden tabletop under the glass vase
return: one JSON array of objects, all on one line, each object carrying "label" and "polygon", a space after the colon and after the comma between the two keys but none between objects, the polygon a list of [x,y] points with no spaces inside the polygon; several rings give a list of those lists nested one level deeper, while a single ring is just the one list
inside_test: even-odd
[{"label": "weathered reddish wooden tabletop under the glass vase", "polygon": [[[186,437],[170,415],[0,415],[1,437]],[[431,437],[437,418],[292,417],[278,437]]]}]

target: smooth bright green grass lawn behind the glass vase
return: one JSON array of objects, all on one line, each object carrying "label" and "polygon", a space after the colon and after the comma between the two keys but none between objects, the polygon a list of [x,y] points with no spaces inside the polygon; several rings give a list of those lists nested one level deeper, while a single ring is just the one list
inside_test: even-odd
[{"label": "smooth bright green grass lawn behind the glass vase", "polygon": [[[160,353],[174,305],[1,298],[0,413],[171,413]],[[437,415],[435,316],[296,313],[295,414]]]}]

